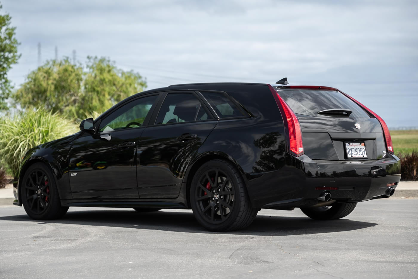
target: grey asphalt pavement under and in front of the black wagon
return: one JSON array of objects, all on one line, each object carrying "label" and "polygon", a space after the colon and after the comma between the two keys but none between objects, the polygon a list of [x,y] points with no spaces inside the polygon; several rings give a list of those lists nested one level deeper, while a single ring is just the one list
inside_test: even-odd
[{"label": "grey asphalt pavement under and in front of the black wagon", "polygon": [[70,208],[35,221],[0,206],[0,278],[418,278],[418,199],[362,202],[342,220],[263,209],[205,231],[190,210]]}]

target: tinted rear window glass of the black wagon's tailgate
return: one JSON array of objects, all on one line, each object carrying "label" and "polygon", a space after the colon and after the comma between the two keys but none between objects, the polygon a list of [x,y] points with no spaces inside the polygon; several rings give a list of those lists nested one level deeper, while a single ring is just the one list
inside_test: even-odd
[{"label": "tinted rear window glass of the black wagon's tailgate", "polygon": [[318,111],[326,109],[349,109],[352,111],[348,116],[350,118],[370,118],[362,108],[339,92],[321,90],[278,90],[278,93],[296,114],[329,117],[329,115],[318,114]]}]

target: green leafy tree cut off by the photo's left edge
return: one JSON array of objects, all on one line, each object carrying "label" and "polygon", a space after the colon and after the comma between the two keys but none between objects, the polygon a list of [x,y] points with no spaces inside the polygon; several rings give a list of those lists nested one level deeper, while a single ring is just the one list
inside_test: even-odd
[{"label": "green leafy tree cut off by the photo's left edge", "polygon": [[[0,4],[0,10],[3,5]],[[7,72],[18,62],[20,44],[15,37],[16,27],[10,26],[11,17],[8,13],[0,15],[0,110],[8,109],[6,99],[10,96],[13,86]]]}]

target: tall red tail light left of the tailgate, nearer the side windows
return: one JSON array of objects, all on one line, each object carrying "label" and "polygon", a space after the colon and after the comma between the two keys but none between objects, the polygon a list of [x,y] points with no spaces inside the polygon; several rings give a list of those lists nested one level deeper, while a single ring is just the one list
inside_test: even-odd
[{"label": "tall red tail light left of the tailgate, nearer the side windows", "polygon": [[283,117],[286,140],[288,141],[288,151],[293,155],[300,156],[303,154],[303,142],[299,119],[282,97],[280,97],[273,86],[269,84],[268,87],[270,88],[271,93],[276,100],[277,106],[280,109],[280,114]]}]

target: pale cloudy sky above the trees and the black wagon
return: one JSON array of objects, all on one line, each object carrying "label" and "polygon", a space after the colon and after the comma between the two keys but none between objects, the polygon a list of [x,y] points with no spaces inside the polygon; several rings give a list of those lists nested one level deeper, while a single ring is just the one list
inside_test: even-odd
[{"label": "pale cloudy sky above the trees and the black wagon", "polygon": [[3,0],[22,57],[106,56],[148,88],[193,82],[328,85],[390,127],[418,127],[418,1]]}]

